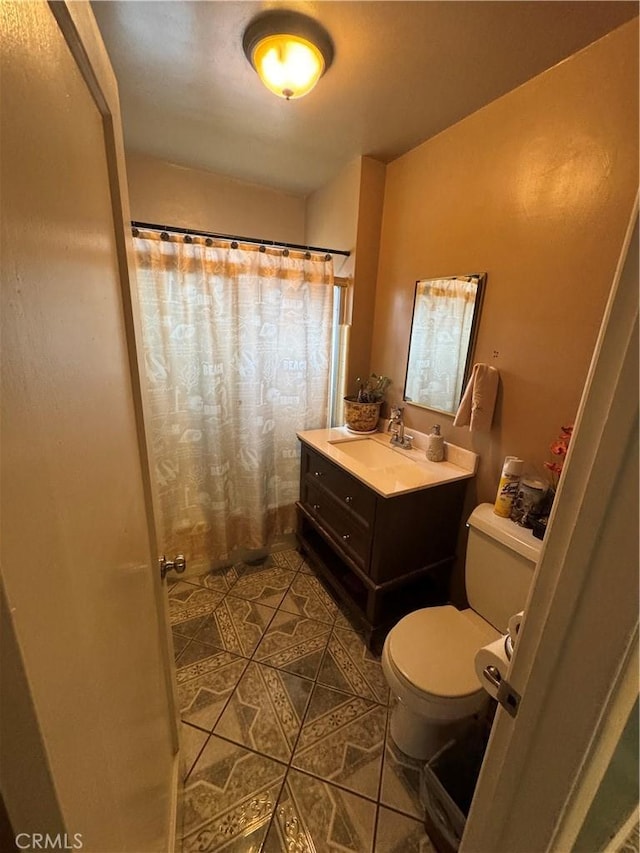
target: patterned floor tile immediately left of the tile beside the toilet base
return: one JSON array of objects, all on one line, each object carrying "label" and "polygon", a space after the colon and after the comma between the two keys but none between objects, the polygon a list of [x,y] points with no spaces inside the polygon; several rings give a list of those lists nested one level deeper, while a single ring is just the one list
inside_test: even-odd
[{"label": "patterned floor tile immediately left of the tile beside the toilet base", "polygon": [[215,727],[215,733],[288,762],[313,682],[250,663]]}]

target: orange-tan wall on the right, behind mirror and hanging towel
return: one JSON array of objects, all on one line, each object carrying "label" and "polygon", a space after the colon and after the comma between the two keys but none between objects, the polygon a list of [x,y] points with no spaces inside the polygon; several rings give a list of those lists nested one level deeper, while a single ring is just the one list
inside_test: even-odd
[{"label": "orange-tan wall on the right, behind mirror and hanging towel", "polygon": [[414,283],[488,273],[475,361],[500,370],[490,434],[407,406],[481,454],[469,504],[502,460],[538,466],[572,421],[638,186],[638,23],[387,166],[371,365],[401,396]]}]

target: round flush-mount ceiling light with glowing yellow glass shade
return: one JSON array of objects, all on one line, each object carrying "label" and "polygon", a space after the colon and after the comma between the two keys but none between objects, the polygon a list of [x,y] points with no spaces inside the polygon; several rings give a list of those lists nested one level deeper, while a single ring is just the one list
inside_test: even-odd
[{"label": "round flush-mount ceiling light with glowing yellow glass shade", "polygon": [[274,10],[254,18],[242,47],[267,89],[287,101],[310,92],[333,61],[329,33],[298,12]]}]

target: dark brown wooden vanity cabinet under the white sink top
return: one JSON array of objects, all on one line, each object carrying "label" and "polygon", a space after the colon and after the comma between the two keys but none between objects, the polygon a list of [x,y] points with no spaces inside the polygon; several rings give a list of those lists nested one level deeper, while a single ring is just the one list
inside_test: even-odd
[{"label": "dark brown wooden vanity cabinet under the white sink top", "polygon": [[370,647],[401,616],[447,600],[466,483],[383,497],[302,442],[300,549]]}]

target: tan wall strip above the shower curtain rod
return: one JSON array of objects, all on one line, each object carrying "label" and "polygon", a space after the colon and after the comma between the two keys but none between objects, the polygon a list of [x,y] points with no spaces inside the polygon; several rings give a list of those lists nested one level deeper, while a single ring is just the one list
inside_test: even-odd
[{"label": "tan wall strip above the shower curtain rod", "polygon": [[305,200],[127,152],[131,216],[142,222],[304,243]]}]

